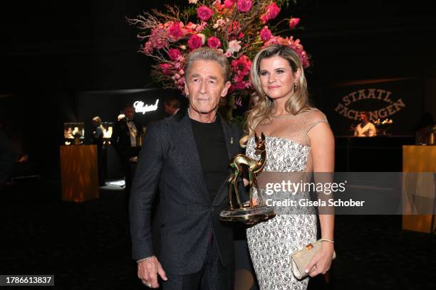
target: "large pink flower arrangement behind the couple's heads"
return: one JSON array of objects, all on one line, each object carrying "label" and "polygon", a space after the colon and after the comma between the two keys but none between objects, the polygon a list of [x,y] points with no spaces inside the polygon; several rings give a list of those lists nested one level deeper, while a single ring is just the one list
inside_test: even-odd
[{"label": "large pink flower arrangement behind the couple's heads", "polygon": [[[168,6],[167,11],[146,12],[128,22],[137,26],[142,42],[140,53],[154,58],[152,77],[163,87],[185,87],[185,66],[190,51],[207,46],[222,50],[232,67],[232,85],[228,102],[242,106],[253,87],[249,78],[251,60],[266,45],[289,45],[301,58],[304,68],[310,66],[308,54],[299,39],[276,35],[281,7],[289,0],[188,0],[187,8]],[[300,18],[290,18],[289,28]],[[282,21],[277,21],[281,23]],[[283,28],[280,28],[283,30]],[[236,97],[235,97],[236,96]],[[236,98],[236,102],[235,102]]]}]

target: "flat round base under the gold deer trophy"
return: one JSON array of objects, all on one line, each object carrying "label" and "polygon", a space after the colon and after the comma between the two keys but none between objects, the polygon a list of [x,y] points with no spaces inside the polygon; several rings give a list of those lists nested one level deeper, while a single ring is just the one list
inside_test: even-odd
[{"label": "flat round base under the gold deer trophy", "polygon": [[223,210],[219,214],[219,220],[225,222],[246,222],[248,220],[266,220],[274,218],[276,212],[273,207],[267,205],[254,206],[252,208],[235,208]]}]

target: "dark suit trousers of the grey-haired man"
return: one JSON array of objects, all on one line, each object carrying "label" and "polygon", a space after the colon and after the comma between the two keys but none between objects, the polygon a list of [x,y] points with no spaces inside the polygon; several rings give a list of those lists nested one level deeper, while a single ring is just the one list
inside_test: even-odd
[{"label": "dark suit trousers of the grey-haired man", "polygon": [[217,245],[211,236],[204,264],[199,272],[187,275],[167,273],[167,278],[167,281],[160,281],[163,290],[233,290],[234,266],[222,267]]}]

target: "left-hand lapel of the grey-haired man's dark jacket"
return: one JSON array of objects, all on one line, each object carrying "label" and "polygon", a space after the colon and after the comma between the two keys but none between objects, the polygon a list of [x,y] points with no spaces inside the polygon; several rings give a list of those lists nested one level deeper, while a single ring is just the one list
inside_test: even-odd
[{"label": "left-hand lapel of the grey-haired man's dark jacket", "polygon": [[210,204],[212,201],[207,191],[206,181],[204,181],[202,164],[199,161],[190,118],[186,113],[180,120],[171,119],[170,123],[174,124],[172,133],[173,136],[176,136],[176,148],[180,151],[182,166],[184,167],[182,172],[189,176],[192,188],[196,188],[197,193]]}]

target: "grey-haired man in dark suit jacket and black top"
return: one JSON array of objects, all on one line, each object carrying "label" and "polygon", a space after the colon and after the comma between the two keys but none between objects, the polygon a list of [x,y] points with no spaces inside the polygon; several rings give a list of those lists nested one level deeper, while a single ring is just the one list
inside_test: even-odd
[{"label": "grey-haired man in dark suit jacket and black top", "polygon": [[[233,289],[233,231],[219,221],[219,213],[229,207],[228,161],[240,153],[242,136],[236,124],[217,114],[229,75],[219,50],[193,50],[186,69],[188,109],[147,129],[130,198],[130,232],[137,274],[151,288]],[[150,229],[157,186],[159,258]]]}]

